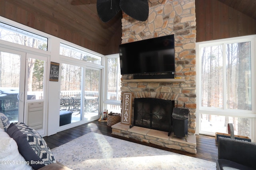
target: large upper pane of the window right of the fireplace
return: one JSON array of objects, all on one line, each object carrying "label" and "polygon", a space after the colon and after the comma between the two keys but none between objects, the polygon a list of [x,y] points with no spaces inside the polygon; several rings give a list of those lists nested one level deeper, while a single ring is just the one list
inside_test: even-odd
[{"label": "large upper pane of the window right of the fireplace", "polygon": [[250,51],[250,41],[202,48],[203,107],[252,110]]}]

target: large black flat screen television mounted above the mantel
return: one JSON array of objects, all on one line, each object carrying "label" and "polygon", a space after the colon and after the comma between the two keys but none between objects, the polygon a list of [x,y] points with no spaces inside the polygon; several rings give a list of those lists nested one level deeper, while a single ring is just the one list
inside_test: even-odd
[{"label": "large black flat screen television mounted above the mantel", "polygon": [[150,78],[152,75],[159,75],[157,73],[165,73],[167,77],[154,76],[154,78],[174,78],[173,34],[124,43],[119,45],[119,52],[121,74],[135,74],[138,78]]}]

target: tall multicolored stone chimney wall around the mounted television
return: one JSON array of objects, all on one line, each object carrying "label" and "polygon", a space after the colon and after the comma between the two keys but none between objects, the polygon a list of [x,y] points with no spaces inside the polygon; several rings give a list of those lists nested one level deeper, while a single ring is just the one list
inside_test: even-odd
[{"label": "tall multicolored stone chimney wall around the mounted television", "polygon": [[[121,92],[133,92],[134,98],[161,98],[178,101],[178,107],[190,109],[188,133],[196,128],[196,13],[195,0],[149,0],[148,20],[137,21],[123,13],[122,43],[164,35],[175,35],[176,77],[184,82],[124,82]],[[122,97],[121,94],[121,97]],[[132,113],[133,115],[133,113]]]}]

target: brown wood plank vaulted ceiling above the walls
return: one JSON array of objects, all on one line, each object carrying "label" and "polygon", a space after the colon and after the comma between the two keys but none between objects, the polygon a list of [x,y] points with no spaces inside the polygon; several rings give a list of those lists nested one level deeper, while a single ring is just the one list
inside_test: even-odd
[{"label": "brown wood plank vaulted ceiling above the walls", "polygon": [[[105,46],[120,29],[122,12],[107,23],[100,20],[97,0],[9,0],[20,8],[48,18],[54,23],[82,33],[91,41]],[[256,0],[218,0],[256,19]]]}]

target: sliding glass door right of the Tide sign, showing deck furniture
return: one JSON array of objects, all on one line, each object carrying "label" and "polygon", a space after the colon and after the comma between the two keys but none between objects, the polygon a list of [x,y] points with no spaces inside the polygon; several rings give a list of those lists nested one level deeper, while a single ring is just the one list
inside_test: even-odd
[{"label": "sliding glass door right of the Tide sign, showing deck furniture", "polygon": [[99,84],[100,70],[61,64],[60,126],[98,119]]}]

